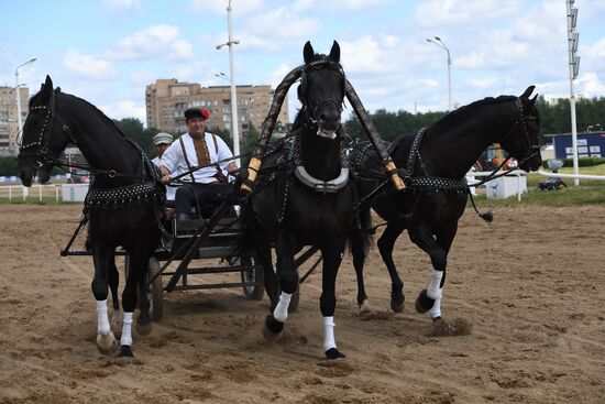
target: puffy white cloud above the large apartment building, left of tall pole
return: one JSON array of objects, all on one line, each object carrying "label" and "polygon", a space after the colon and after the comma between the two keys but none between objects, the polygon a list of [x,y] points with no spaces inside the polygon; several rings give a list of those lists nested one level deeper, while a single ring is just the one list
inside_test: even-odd
[{"label": "puffy white cloud above the large apartment building, left of tall pole", "polygon": [[191,44],[179,36],[178,26],[150,26],[120,40],[109,54],[116,59],[193,59]]}]

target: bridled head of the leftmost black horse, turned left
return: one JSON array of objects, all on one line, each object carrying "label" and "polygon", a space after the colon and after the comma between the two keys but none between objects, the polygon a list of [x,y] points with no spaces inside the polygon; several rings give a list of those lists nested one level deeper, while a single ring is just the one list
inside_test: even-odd
[{"label": "bridled head of the leftmost black horse, turned left", "polygon": [[51,177],[53,160],[56,160],[68,143],[63,124],[56,118],[53,80],[46,81],[30,100],[30,113],[23,124],[19,146],[19,176],[24,186],[32,185],[37,174],[41,183]]}]

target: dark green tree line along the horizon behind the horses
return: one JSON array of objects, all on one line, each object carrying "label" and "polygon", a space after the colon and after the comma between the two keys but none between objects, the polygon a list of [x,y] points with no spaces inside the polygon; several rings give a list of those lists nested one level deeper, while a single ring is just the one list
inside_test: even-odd
[{"label": "dark green tree line along the horizon behind the horses", "polygon": [[[542,97],[536,102],[540,112],[540,144],[550,141],[544,134],[570,133],[571,132],[571,112],[569,99],[559,99],[556,102],[547,102]],[[386,109],[378,109],[371,114],[372,122],[385,141],[393,141],[402,134],[409,133],[427,127],[447,112],[418,112],[411,113],[405,110],[389,112]],[[605,98],[579,99],[575,103],[576,129],[578,133],[588,130],[605,130]],[[154,157],[152,138],[161,131],[155,128],[143,127],[143,122],[136,118],[124,118],[113,120],[124,135],[134,140],[150,157]],[[277,124],[279,127],[280,123]],[[286,125],[286,128],[289,125]],[[354,139],[366,139],[361,122],[356,116],[352,116],[344,122],[345,132]],[[221,137],[227,144],[233,145],[233,140],[229,130],[219,128],[208,128]],[[174,133],[173,133],[174,134]],[[175,135],[175,139],[177,137]],[[242,154],[252,152],[258,140],[258,130],[250,124],[250,130],[241,133],[240,149]],[[233,150],[233,149],[232,149]],[[16,157],[0,157],[0,176],[18,175]]]}]

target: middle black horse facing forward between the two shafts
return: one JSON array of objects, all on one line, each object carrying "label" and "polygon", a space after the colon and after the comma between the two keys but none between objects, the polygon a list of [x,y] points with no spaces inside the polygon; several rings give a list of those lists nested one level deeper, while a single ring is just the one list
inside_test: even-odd
[{"label": "middle black horse facing forward between the two shafts", "polygon": [[[328,56],[316,54],[307,42],[298,87],[302,107],[290,132],[296,135],[263,160],[256,188],[249,198],[248,229],[265,269],[272,314],[265,319],[264,334],[270,339],[283,330],[292,294],[298,287],[295,254],[305,245],[321,251],[323,348],[327,358],[337,359],[344,356],[337,349],[333,336],[336,279],[354,205],[341,153],[345,77],[336,41]],[[273,271],[272,244],[277,253],[277,276]]]}]

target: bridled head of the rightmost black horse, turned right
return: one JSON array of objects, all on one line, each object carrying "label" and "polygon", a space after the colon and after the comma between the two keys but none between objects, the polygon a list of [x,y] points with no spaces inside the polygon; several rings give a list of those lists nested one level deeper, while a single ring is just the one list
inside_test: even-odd
[{"label": "bridled head of the rightmost black horse, turned right", "polygon": [[517,161],[519,166],[527,171],[536,171],[542,164],[538,132],[540,131],[540,113],[536,107],[536,99],[529,98],[536,87],[529,86],[524,94],[516,99],[518,121],[517,135],[507,135],[501,144]]}]

